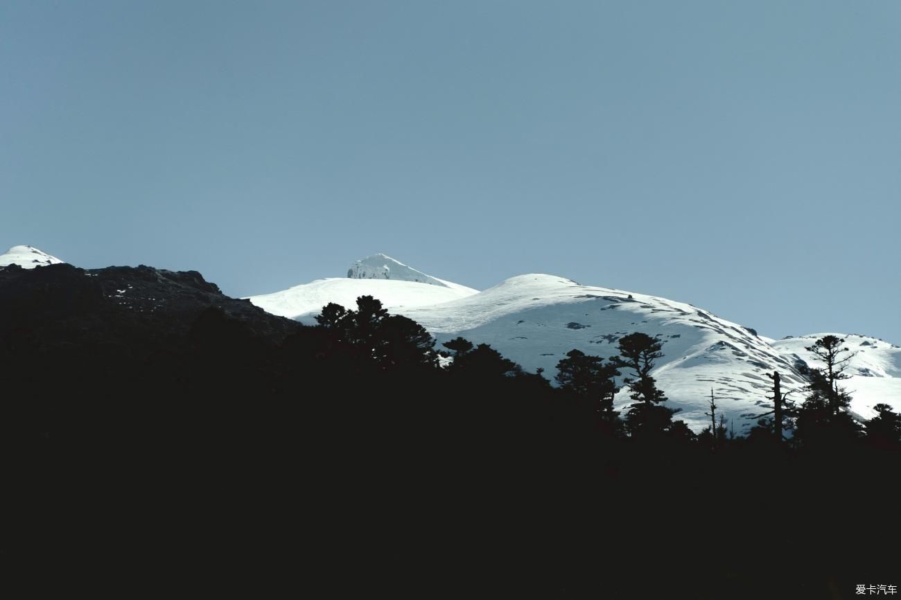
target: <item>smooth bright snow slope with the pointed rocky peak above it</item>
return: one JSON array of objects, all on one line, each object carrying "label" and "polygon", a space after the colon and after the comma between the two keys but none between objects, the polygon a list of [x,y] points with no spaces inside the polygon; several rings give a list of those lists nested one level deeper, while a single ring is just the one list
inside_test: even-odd
[{"label": "smooth bright snow slope with the pointed rocky peak above it", "polygon": [[407,267],[384,254],[355,262],[348,277],[316,279],[300,286],[265,295],[251,295],[250,302],[271,314],[315,324],[315,316],[330,302],[355,308],[360,295],[381,300],[389,311],[404,314],[414,306],[437,305],[478,294],[478,290],[444,281]]}]

